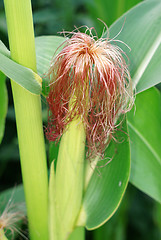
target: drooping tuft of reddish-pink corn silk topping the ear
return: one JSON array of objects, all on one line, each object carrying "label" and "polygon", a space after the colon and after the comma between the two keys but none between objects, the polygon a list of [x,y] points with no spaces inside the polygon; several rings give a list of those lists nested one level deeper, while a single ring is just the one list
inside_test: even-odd
[{"label": "drooping tuft of reddish-pink corn silk topping the ear", "polygon": [[87,30],[70,33],[48,71],[46,135],[50,141],[58,141],[68,124],[80,118],[86,131],[87,156],[92,158],[103,156],[120,114],[132,107],[133,92],[124,52],[109,38],[98,39]]}]

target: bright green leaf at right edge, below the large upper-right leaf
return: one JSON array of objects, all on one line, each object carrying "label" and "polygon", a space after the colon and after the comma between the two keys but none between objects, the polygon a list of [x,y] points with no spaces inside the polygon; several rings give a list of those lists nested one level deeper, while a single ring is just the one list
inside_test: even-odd
[{"label": "bright green leaf at right edge, below the large upper-right leaf", "polygon": [[130,182],[161,203],[160,93],[149,89],[136,97],[128,113],[131,143]]}]

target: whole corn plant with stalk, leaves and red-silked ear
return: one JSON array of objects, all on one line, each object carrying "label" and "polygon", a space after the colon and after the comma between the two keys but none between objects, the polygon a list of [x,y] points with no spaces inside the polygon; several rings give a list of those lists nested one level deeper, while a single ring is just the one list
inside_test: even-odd
[{"label": "whole corn plant with stalk, leaves and red-silked ear", "polygon": [[[99,228],[117,211],[129,181],[161,203],[154,87],[161,82],[161,3],[144,1],[109,29],[103,23],[101,38],[88,27],[34,38],[30,0],[4,6],[10,51],[1,41],[0,141],[7,76],[23,178],[14,194],[24,189],[30,239],[85,239],[85,228]],[[41,95],[49,109],[44,131]],[[26,214],[11,200],[0,217],[2,240]]]}]

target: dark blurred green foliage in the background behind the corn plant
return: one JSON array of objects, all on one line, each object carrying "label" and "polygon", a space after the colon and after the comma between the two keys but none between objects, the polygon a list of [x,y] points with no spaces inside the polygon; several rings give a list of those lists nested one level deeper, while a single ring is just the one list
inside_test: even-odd
[{"label": "dark blurred green foliage in the background behind the corn plant", "polygon": [[[35,35],[59,35],[75,26],[95,27],[101,36],[104,24],[109,27],[139,0],[32,0]],[[8,47],[3,2],[0,1],[0,40]],[[22,182],[10,82],[7,79],[8,113],[5,135],[0,145],[0,191]],[[47,121],[45,100],[43,120]],[[25,127],[25,126],[24,126]],[[47,148],[48,143],[46,142]],[[1,204],[1,203],[0,203]],[[86,232],[93,240],[159,240],[161,239],[161,206],[129,184],[119,210],[98,230]],[[17,239],[21,239],[18,237]]]}]

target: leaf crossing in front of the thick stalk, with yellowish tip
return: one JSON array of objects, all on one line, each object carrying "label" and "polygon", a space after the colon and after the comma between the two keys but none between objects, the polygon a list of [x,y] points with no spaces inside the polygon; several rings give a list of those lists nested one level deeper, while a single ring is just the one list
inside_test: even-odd
[{"label": "leaf crossing in front of the thick stalk, with yellowish tip", "polygon": [[41,78],[31,69],[26,68],[0,53],[0,71],[33,94],[41,92]]}]

